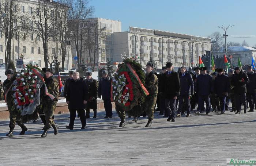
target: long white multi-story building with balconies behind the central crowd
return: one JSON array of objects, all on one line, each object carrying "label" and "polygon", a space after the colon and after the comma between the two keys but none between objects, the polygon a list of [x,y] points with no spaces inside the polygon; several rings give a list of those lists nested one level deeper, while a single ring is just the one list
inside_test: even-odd
[{"label": "long white multi-story building with balconies behind the central crowd", "polygon": [[113,41],[113,62],[123,61],[121,54],[124,53],[137,55],[143,67],[150,57],[157,68],[167,61],[174,66],[196,66],[199,56],[210,50],[210,38],[135,27],[114,32]]}]

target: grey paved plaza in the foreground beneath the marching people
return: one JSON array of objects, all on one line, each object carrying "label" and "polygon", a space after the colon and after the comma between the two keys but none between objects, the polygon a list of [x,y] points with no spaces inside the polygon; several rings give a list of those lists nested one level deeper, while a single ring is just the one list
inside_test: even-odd
[{"label": "grey paved plaza in the foreground beneath the marching people", "polygon": [[67,130],[68,114],[56,115],[60,133],[51,128],[41,138],[41,120],[26,123],[26,135],[7,138],[9,120],[0,121],[0,165],[56,166],[218,166],[226,158],[256,158],[256,112],[234,115],[227,111],[209,115],[192,114],[168,122],[155,113],[150,128],[146,118],[138,122],[127,118],[120,128],[117,114],[104,119],[87,119],[86,130],[80,130],[76,119],[73,131]]}]

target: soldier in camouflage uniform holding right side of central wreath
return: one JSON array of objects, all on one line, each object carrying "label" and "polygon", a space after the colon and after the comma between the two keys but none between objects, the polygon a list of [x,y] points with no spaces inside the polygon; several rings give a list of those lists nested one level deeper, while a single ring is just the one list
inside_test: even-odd
[{"label": "soldier in camouflage uniform holding right side of central wreath", "polygon": [[151,62],[147,63],[147,73],[145,78],[145,88],[148,90],[149,95],[144,102],[144,111],[147,113],[148,122],[145,127],[150,127],[154,118],[154,107],[157,102],[158,93],[158,79],[153,72],[154,65]]}]

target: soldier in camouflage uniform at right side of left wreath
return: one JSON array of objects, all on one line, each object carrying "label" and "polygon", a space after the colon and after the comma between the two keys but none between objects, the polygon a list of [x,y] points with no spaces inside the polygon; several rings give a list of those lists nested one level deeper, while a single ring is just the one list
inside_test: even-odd
[{"label": "soldier in camouflage uniform at right side of left wreath", "polygon": [[55,98],[52,100],[48,95],[45,94],[45,87],[42,86],[42,108],[44,110],[44,115],[45,115],[45,126],[44,126],[44,132],[41,135],[41,137],[46,137],[47,136],[47,131],[49,128],[52,126],[54,129],[54,135],[58,134],[58,126],[54,123],[52,116],[56,108],[57,101],[59,100],[59,82],[53,78],[54,74],[54,69],[53,68],[47,68],[45,70],[45,84],[48,89],[48,92],[52,94]]}]

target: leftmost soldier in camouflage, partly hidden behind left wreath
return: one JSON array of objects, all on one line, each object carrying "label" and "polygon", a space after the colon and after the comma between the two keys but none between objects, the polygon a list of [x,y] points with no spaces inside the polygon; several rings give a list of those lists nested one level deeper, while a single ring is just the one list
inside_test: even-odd
[{"label": "leftmost soldier in camouflage, partly hidden behind left wreath", "polygon": [[15,127],[15,122],[17,122],[17,124],[21,127],[22,131],[20,132],[20,135],[24,135],[25,132],[27,131],[27,127],[21,122],[21,115],[19,115],[19,113],[16,111],[16,109],[12,110],[12,94],[14,93],[12,91],[12,83],[14,82],[14,80],[16,79],[16,77],[14,77],[14,72],[12,69],[6,70],[5,71],[5,75],[7,76],[7,79],[4,80],[4,84],[3,84],[3,89],[4,89],[4,93],[6,94],[6,101],[7,102],[7,107],[10,113],[10,123],[9,123],[9,127],[10,127],[10,131],[8,132],[8,134],[6,134],[6,136],[8,137],[12,137],[13,136],[13,130]]}]

